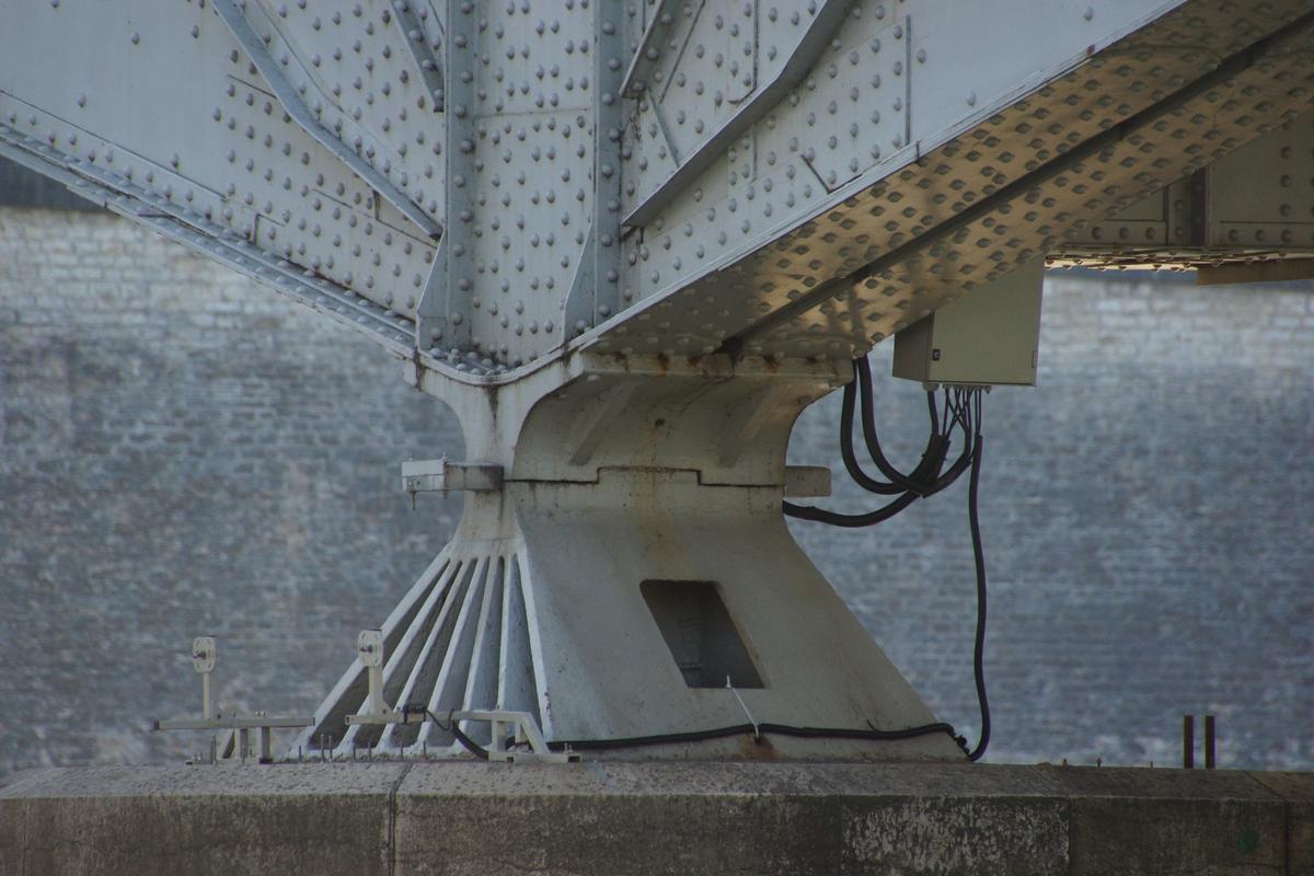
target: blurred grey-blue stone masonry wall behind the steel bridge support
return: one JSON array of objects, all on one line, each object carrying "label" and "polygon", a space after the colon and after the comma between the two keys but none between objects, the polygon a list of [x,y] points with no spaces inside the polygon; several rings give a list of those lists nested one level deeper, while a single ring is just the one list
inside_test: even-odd
[{"label": "blurred grey-blue stone masonry wall behind the steel bridge support", "polygon": [[[991,760],[1314,768],[1314,294],[1047,278],[1037,389],[987,399]],[[890,452],[924,405],[874,353]],[[828,464],[838,399],[791,461]],[[200,708],[309,712],[455,527],[398,487],[452,415],[369,340],[104,213],[0,208],[0,776],[176,760]],[[942,720],[976,733],[966,485],[794,532]]]}]

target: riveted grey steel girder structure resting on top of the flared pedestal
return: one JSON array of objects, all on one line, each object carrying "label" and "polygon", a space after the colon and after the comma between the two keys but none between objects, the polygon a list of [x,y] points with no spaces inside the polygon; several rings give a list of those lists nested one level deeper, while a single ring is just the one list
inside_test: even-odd
[{"label": "riveted grey steel girder structure resting on top of the flared pedestal", "polygon": [[853,356],[1309,105],[1294,0],[439,5],[251,0],[244,29],[231,0],[26,7],[0,118],[392,311],[424,368],[503,383],[568,348]]}]

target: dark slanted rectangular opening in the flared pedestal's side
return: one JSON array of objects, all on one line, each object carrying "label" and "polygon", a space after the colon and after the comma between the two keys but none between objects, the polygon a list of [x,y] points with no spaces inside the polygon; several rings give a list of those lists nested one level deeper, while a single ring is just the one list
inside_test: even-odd
[{"label": "dark slanted rectangular opening in the flared pedestal's side", "polygon": [[765,687],[712,580],[645,580],[648,611],[689,687]]}]

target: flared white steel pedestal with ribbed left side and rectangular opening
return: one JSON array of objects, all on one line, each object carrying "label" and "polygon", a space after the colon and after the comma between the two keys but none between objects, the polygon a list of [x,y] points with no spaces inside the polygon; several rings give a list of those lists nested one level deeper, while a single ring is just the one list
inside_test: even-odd
[{"label": "flared white steel pedestal with ribbed left side and rectangular opening", "polygon": [[[432,372],[411,372],[422,386]],[[384,625],[394,708],[507,709],[548,739],[614,739],[742,724],[903,729],[933,721],[781,517],[794,419],[848,380],[833,365],[586,356],[499,393],[452,398],[466,452],[502,465],[468,493],[453,541]],[[438,571],[440,570],[440,571]],[[644,580],[711,580],[765,686],[690,688],[644,603]],[[435,724],[348,724],[367,711],[361,665],[317,711],[302,745],[461,755]],[[481,743],[487,728],[470,725]],[[331,741],[331,742],[328,742]],[[943,733],[905,742],[771,737],[787,756],[937,758]],[[749,749],[744,746],[748,745]],[[752,737],[608,753],[742,756]]]}]

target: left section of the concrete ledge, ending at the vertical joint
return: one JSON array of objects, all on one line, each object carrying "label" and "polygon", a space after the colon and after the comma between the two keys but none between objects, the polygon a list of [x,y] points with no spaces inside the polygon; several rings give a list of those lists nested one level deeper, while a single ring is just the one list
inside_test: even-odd
[{"label": "left section of the concrete ledge, ending at the vertical joint", "polygon": [[398,764],[95,767],[0,787],[0,873],[380,873]]}]

